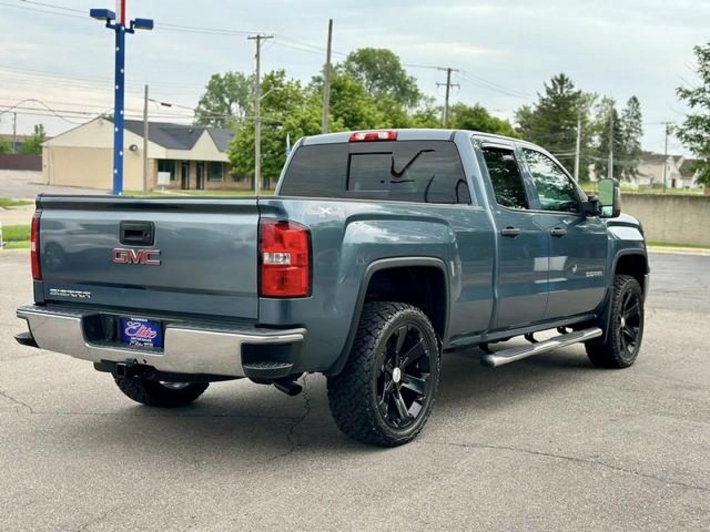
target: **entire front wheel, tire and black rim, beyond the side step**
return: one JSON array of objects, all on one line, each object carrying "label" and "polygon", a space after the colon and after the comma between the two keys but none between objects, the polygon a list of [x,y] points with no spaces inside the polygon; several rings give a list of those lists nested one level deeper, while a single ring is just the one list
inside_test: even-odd
[{"label": "entire front wheel, tire and black rim, beyond the side step", "polygon": [[586,343],[586,354],[596,367],[629,367],[638,357],[643,339],[643,290],[630,275],[614,278],[611,316],[606,340]]}]

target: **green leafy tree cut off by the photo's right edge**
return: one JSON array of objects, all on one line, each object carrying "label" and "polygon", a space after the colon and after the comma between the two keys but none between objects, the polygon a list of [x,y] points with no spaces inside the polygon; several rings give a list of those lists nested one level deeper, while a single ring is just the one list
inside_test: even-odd
[{"label": "green leafy tree cut off by the photo's right edge", "polygon": [[[697,157],[698,181],[710,187],[710,42],[693,48],[698,62],[697,87],[678,87],[677,94],[692,110],[676,130],[677,137]],[[707,190],[707,189],[706,189]]]}]

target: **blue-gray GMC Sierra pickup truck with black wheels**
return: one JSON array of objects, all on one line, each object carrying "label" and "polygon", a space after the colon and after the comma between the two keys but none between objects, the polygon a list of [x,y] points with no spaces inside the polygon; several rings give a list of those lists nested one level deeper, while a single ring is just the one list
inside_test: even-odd
[{"label": "blue-gray GMC Sierra pickup truck with black wheels", "polygon": [[274,196],[44,195],[16,338],[149,406],[244,377],[295,395],[320,372],[344,433],[400,445],[442,353],[498,367],[584,343],[594,366],[633,364],[649,270],[619,197],[531,143],[450,130],[302,138]]}]

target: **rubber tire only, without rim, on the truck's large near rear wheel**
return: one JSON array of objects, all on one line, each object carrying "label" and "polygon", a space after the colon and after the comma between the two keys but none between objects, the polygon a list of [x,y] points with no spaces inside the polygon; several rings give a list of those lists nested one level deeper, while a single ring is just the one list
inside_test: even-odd
[{"label": "rubber tire only, without rim, on the truck's large near rear wheel", "polygon": [[[413,424],[400,429],[390,426],[378,408],[377,382],[378,375],[383,375],[382,368],[378,367],[378,357],[382,356],[395,331],[404,326],[419,328],[417,334],[421,333],[422,345],[427,350],[428,392],[422,396],[425,406],[415,414]],[[339,375],[328,377],[328,402],[335,423],[347,436],[361,443],[385,447],[408,443],[422,431],[431,413],[439,386],[440,365],[439,340],[420,309],[404,303],[366,304],[344,369]]]}]

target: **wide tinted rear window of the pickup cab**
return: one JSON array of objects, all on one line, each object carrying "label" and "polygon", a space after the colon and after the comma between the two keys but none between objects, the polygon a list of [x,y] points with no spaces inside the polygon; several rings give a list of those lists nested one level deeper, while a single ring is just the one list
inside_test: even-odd
[{"label": "wide tinted rear window of the pickup cab", "polygon": [[470,204],[456,145],[448,140],[301,146],[280,194]]}]

